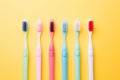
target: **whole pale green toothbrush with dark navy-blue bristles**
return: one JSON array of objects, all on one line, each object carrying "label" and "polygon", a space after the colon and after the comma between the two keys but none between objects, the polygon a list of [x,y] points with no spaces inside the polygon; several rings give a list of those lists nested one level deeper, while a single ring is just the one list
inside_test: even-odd
[{"label": "whole pale green toothbrush with dark navy-blue bristles", "polygon": [[28,47],[27,47],[28,22],[24,20],[22,26],[24,32],[23,80],[28,80]]}]

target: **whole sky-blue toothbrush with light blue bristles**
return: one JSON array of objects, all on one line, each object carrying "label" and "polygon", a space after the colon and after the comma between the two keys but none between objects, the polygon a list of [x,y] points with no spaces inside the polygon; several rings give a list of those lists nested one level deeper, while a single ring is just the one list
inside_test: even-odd
[{"label": "whole sky-blue toothbrush with light blue bristles", "polygon": [[68,62],[68,52],[66,47],[66,34],[67,34],[67,21],[63,20],[62,22],[62,32],[64,36],[63,47],[62,47],[62,80],[68,80],[68,70],[67,70],[67,62]]}]

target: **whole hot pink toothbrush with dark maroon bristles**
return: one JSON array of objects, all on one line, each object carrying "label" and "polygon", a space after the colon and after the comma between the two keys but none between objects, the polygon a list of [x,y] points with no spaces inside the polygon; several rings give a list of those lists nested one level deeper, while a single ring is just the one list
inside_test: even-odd
[{"label": "whole hot pink toothbrush with dark maroon bristles", "polygon": [[54,80],[54,21],[50,21],[50,49],[49,49],[49,69],[50,69],[50,80]]}]

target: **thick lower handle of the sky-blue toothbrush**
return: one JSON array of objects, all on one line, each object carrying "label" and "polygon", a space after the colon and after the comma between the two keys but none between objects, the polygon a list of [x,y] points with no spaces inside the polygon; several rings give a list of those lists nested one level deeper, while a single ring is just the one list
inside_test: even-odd
[{"label": "thick lower handle of the sky-blue toothbrush", "polygon": [[68,80],[67,67],[68,67],[67,50],[62,51],[62,80]]}]

